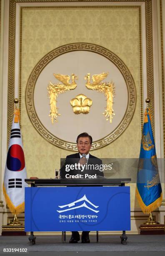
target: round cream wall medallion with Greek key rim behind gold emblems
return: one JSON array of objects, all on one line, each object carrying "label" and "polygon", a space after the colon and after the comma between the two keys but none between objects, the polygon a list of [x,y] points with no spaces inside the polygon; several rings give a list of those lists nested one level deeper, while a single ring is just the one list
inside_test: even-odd
[{"label": "round cream wall medallion with Greek key rim behind gold emblems", "polygon": [[[102,113],[106,108],[106,97],[100,92],[85,87],[85,75],[109,72],[103,82],[115,84],[112,123],[106,121]],[[59,83],[56,74],[76,74],[77,87],[57,97],[57,108],[61,116],[52,124],[49,112],[50,102],[47,96],[49,81]],[[91,79],[92,82],[92,79]],[[84,94],[92,99],[90,112],[75,115],[70,100]],[[77,151],[77,135],[89,133],[93,138],[91,150],[102,148],[118,138],[128,127],[136,105],[136,89],[130,71],[123,61],[112,51],[102,46],[87,43],[75,43],[60,46],[46,54],[34,67],[28,79],[25,93],[26,108],[32,125],[37,132],[53,145]]]}]

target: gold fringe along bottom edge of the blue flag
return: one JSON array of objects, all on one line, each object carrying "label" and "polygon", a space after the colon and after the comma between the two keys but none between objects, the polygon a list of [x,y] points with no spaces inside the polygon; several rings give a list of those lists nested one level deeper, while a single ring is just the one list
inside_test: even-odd
[{"label": "gold fringe along bottom edge of the blue flag", "polygon": [[146,206],[139,194],[137,187],[136,187],[136,197],[138,198],[138,203],[144,214],[150,214],[150,212],[153,212],[156,208],[158,208],[162,202],[162,193],[161,193],[160,197],[157,200],[155,200],[152,204]]}]

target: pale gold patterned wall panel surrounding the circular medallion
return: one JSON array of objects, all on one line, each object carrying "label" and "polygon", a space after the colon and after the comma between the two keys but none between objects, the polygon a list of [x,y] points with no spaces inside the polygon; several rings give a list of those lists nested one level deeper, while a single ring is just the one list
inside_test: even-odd
[{"label": "pale gold patterned wall panel surrounding the circular medallion", "polygon": [[[75,23],[76,29],[73,30]],[[28,176],[34,176],[33,159],[36,159],[35,175],[37,177],[46,177],[47,172],[53,177],[55,166],[60,167],[60,157],[70,154],[52,146],[40,137],[28,118],[24,100],[26,84],[32,68],[47,52],[62,44],[83,41],[97,43],[117,54],[130,69],[137,90],[137,105],[133,120],[120,138],[92,153],[102,158],[138,157],[140,145],[139,9],[42,8],[35,10],[26,8],[23,9],[22,29],[21,123]],[[122,40],[119,40],[119,34]],[[99,101],[99,94],[97,97]],[[63,127],[64,133],[65,129]],[[102,137],[100,134],[100,138]],[[32,141],[35,142],[33,147],[31,147]],[[40,161],[41,158],[42,161]]]}]

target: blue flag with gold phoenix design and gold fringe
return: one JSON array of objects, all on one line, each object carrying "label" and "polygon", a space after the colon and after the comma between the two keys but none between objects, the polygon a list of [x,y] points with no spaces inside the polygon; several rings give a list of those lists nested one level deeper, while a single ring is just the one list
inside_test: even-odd
[{"label": "blue flag with gold phoenix design and gold fringe", "polygon": [[148,109],[145,111],[143,125],[136,196],[140,207],[145,214],[149,214],[155,210],[162,202],[162,188]]}]

